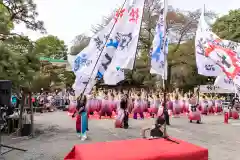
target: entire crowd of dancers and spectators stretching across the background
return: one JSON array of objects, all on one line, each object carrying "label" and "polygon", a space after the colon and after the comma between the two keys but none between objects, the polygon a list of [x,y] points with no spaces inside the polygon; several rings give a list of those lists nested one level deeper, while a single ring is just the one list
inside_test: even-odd
[{"label": "entire crowd of dancers and spectators stretching across the background", "polygon": [[[26,103],[29,102],[28,98],[26,98]],[[178,117],[180,114],[187,114],[190,121],[197,120],[199,123],[200,116],[203,114],[221,114],[226,101],[226,96],[217,94],[214,96],[191,92],[183,94],[178,91],[167,93],[164,98],[162,91],[153,92],[143,89],[141,91],[94,89],[91,94],[79,97],[75,96],[73,90],[42,92],[33,94],[31,98],[34,107],[48,111],[66,106],[69,115],[77,118],[76,129],[82,139],[86,139],[86,133],[82,134],[82,116],[85,113],[86,117],[97,115],[99,119],[102,117],[115,118],[115,127],[125,129],[129,127],[129,116],[132,116],[133,119],[156,118],[155,126],[162,126],[163,122],[170,125],[170,116]],[[19,105],[15,95],[12,96],[12,104]],[[231,109],[238,111],[238,104],[238,99],[233,99],[230,103]],[[238,114],[231,116],[239,117]],[[161,124],[158,124],[160,122]],[[85,128],[87,131],[87,124]],[[156,131],[152,133],[155,134]]]}]

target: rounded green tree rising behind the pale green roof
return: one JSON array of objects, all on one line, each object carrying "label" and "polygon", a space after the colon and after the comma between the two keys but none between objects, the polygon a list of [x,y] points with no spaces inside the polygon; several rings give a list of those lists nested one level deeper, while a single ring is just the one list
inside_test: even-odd
[{"label": "rounded green tree rising behind the pale green roof", "polygon": [[35,52],[43,57],[64,59],[67,57],[67,46],[63,40],[49,35],[36,41]]}]

